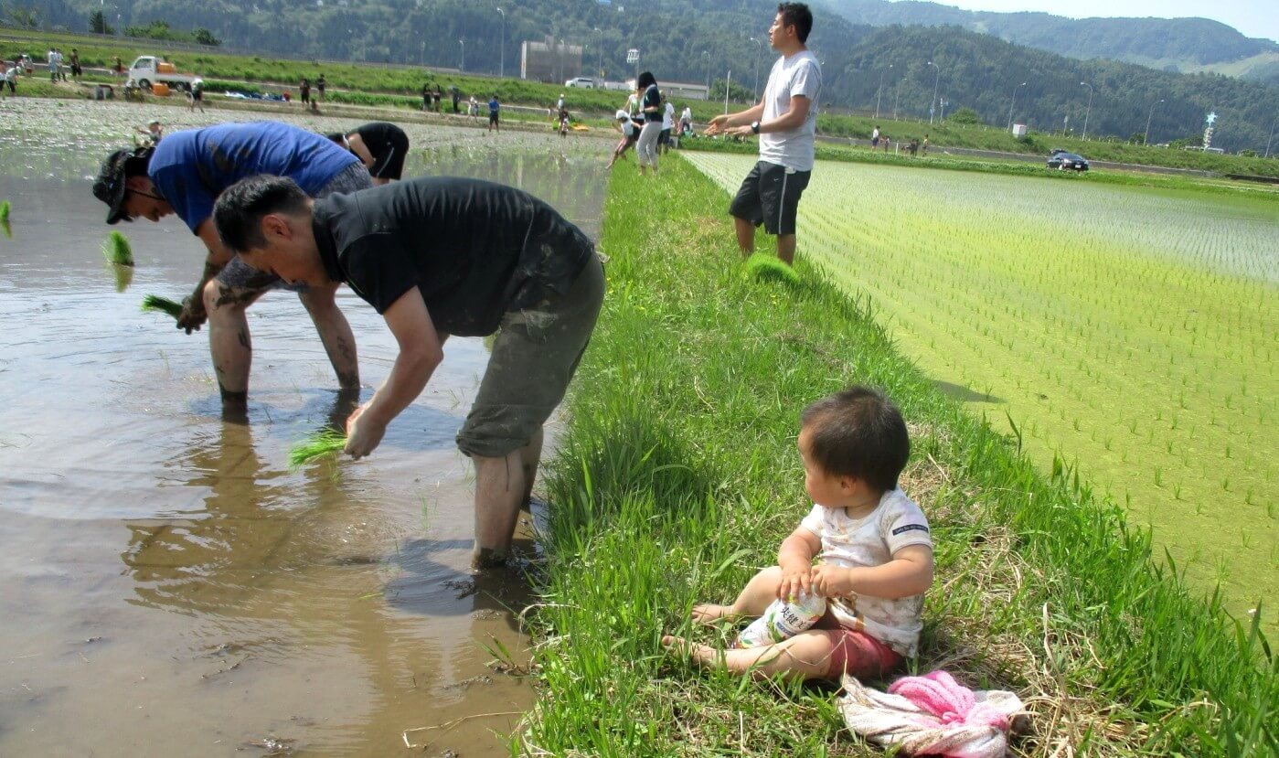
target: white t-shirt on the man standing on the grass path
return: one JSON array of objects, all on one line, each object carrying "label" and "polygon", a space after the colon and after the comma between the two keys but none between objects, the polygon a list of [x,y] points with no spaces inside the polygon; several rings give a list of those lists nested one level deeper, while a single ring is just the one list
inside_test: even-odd
[{"label": "white t-shirt on the man standing on the grass path", "polygon": [[797,129],[760,134],[760,160],[796,171],[812,170],[813,134],[817,133],[817,97],[821,95],[821,64],[804,50],[779,58],[764,88],[764,119],[771,121],[790,110],[790,98],[808,98],[808,118]]}]

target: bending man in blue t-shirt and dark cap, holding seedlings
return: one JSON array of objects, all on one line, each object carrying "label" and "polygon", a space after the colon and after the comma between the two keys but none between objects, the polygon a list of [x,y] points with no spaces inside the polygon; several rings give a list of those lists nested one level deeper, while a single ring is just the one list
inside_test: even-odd
[{"label": "bending man in blue t-shirt and dark cap, holding seedlings", "polygon": [[320,134],[279,123],[220,124],[165,135],[153,148],[111,153],[93,184],[110,208],[107,224],[136,217],[159,221],[177,213],[208,251],[205,270],[183,302],[178,329],[191,334],[208,320],[208,346],[224,406],[242,408],[252,363],[244,309],[270,289],[298,293],[320,332],[344,390],[359,387],[356,337],[334,302],[336,282],[290,286],[249,268],[223,247],[214,230],[214,201],[244,176],[289,176],[312,197],[372,185],[356,156]]}]

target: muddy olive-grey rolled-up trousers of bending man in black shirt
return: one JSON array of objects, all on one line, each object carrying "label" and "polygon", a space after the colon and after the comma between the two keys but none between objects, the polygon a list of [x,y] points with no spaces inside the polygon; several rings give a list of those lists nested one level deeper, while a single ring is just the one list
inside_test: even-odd
[{"label": "muddy olive-grey rolled-up trousers of bending man in black shirt", "polygon": [[604,303],[604,263],[592,253],[563,295],[501,318],[480,392],[458,432],[467,455],[523,447],[564,399]]}]

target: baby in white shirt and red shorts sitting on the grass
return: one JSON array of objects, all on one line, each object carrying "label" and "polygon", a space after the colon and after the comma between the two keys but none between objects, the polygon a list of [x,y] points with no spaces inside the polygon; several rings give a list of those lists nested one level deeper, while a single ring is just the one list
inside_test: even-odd
[{"label": "baby in white shirt and red shorts sitting on the grass", "polygon": [[776,566],[756,574],[730,606],[693,607],[693,621],[760,616],[774,599],[801,593],[826,598],[825,615],[776,644],[720,652],[670,635],[663,644],[706,667],[833,681],[844,672],[880,679],[913,657],[932,538],[923,511],[897,488],[909,454],[906,422],[877,390],[852,387],[806,408],[799,456],[812,510],[781,543]]}]

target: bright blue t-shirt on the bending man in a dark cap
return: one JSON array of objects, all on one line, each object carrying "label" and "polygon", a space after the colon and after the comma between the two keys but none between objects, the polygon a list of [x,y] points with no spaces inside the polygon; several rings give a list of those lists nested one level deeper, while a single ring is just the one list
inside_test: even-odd
[{"label": "bright blue t-shirt on the bending man in a dark cap", "polygon": [[214,215],[214,201],[246,176],[274,174],[315,196],[359,159],[326,137],[276,121],[219,124],[165,134],[147,173],[194,233]]}]

